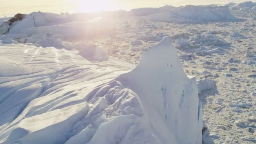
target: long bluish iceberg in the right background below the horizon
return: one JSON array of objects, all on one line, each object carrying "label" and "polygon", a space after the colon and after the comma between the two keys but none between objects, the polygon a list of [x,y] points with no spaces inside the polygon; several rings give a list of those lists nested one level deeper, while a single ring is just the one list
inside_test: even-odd
[{"label": "long bluish iceberg in the right background below the horizon", "polygon": [[202,23],[214,21],[237,21],[225,6],[206,7],[187,5],[174,11],[162,11],[149,15],[151,21],[166,21],[176,23]]}]

